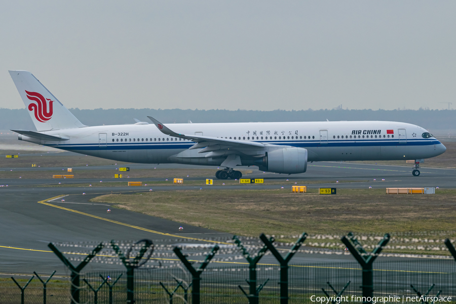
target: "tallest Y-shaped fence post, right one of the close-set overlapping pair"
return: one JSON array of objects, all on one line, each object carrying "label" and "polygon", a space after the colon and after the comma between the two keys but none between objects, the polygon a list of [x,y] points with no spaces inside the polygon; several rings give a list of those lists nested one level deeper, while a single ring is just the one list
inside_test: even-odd
[{"label": "tallest Y-shaped fence post, right one of the close-set overlapping pair", "polygon": [[288,303],[288,262],[298,251],[299,247],[301,247],[306,238],[307,233],[301,234],[299,236],[299,239],[294,244],[293,248],[291,248],[287,256],[283,258],[279,251],[277,251],[276,247],[274,247],[273,243],[270,242],[263,233],[260,235],[260,240],[263,241],[263,243],[268,247],[271,253],[276,257],[277,261],[280,263],[280,304]]}]

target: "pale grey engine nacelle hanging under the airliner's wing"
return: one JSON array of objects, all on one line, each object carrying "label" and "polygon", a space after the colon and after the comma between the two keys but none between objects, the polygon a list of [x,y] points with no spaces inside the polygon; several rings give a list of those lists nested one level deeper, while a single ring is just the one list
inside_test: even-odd
[{"label": "pale grey engine nacelle hanging under the airliner's wing", "polygon": [[268,172],[296,174],[307,170],[307,149],[287,147],[268,152]]}]

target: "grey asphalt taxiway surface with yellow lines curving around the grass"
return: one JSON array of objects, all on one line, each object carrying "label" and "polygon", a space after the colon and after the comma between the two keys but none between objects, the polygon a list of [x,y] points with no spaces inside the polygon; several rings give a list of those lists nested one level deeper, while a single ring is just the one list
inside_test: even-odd
[{"label": "grey asphalt taxiway surface with yellow lines curving around the grass", "polygon": [[[172,168],[174,165],[129,165],[131,169]],[[81,167],[82,170],[94,168],[105,169],[112,166]],[[5,169],[5,168],[4,168]],[[4,170],[2,169],[2,170]],[[28,170],[30,168],[23,168]],[[45,170],[45,168],[39,168]],[[55,169],[55,168],[53,168]],[[79,168],[73,168],[79,170]],[[17,168],[15,170],[20,170]],[[436,187],[454,188],[454,169],[422,168],[421,176],[411,175],[411,168],[401,166],[380,166],[347,163],[312,163],[308,172],[298,175],[279,175],[254,171],[245,177],[280,180],[325,180],[339,183],[309,184],[310,188],[324,186],[341,188],[385,188],[385,187]],[[201,180],[206,177],[188,178]],[[376,179],[375,181],[373,179]],[[382,181],[385,179],[385,181]],[[135,179],[128,179],[135,180]],[[147,179],[147,180],[163,180]],[[104,179],[103,182],[119,181]],[[123,180],[127,181],[127,180]],[[50,242],[99,242],[115,240],[152,239],[156,244],[204,243],[193,239],[231,239],[231,235],[183,225],[166,219],[151,217],[127,210],[110,208],[106,204],[93,204],[89,200],[98,195],[115,192],[143,192],[149,187],[41,187],[39,185],[65,183],[95,183],[98,179],[0,179],[0,274],[30,274],[33,271],[68,275],[62,262],[50,252]],[[6,186],[8,185],[8,186]],[[274,185],[224,185],[224,186],[191,186],[182,185],[179,189],[194,188],[278,188]],[[291,185],[283,185],[291,188]],[[176,189],[175,186],[157,186],[154,191]],[[86,193],[82,195],[82,193]],[[64,198],[47,202],[50,198],[67,195]],[[61,200],[65,201],[62,202]],[[64,208],[64,209],[62,209]],[[178,227],[184,230],[179,231]],[[62,249],[63,250],[63,249]],[[239,253],[233,253],[239,255]],[[71,255],[68,255],[71,256]],[[300,254],[293,257],[294,263],[323,263],[353,261],[351,255],[336,254]],[[241,260],[243,261],[243,260]],[[239,261],[237,261],[239,262]],[[277,263],[272,256],[265,256],[263,263]],[[422,262],[422,261],[420,261]],[[75,262],[79,263],[79,262]],[[226,265],[226,263],[224,264]],[[85,270],[96,270],[107,267],[100,263],[89,263]],[[110,266],[112,267],[112,266]],[[118,266],[122,269],[122,266]]]}]

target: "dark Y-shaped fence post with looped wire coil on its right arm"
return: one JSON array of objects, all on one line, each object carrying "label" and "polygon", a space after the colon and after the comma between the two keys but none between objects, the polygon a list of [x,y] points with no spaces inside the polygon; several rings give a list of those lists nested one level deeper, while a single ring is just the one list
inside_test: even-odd
[{"label": "dark Y-shaped fence post with looped wire coil on its right arm", "polygon": [[[130,252],[133,248],[134,245],[137,245],[139,243],[143,243],[144,245],[141,247],[141,250],[138,252],[138,254],[135,256],[135,258],[131,261],[130,260]],[[127,254],[124,255],[122,251],[120,250],[119,246],[116,245],[114,240],[111,240],[111,246],[114,251],[116,251],[116,254],[119,256],[121,259],[122,263],[125,265],[125,268],[127,268],[127,303],[133,304],[135,302],[135,294],[134,294],[134,289],[135,289],[135,268],[141,267],[145,262],[148,261],[152,253],[154,252],[154,243],[150,240],[143,239],[139,240],[135,244],[133,244],[130,249],[127,251]],[[146,251],[151,247],[151,251],[148,254],[147,258],[141,261],[142,256],[146,253]],[[140,262],[141,261],[141,262]]]}]

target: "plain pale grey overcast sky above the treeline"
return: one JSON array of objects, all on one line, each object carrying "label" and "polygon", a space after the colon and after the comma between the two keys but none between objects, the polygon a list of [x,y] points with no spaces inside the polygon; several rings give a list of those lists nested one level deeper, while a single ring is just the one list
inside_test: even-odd
[{"label": "plain pale grey overcast sky above the treeline", "polygon": [[2,1],[8,69],[66,107],[456,108],[455,1]]}]

